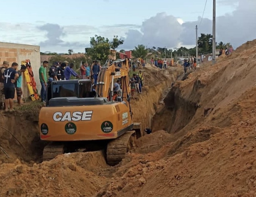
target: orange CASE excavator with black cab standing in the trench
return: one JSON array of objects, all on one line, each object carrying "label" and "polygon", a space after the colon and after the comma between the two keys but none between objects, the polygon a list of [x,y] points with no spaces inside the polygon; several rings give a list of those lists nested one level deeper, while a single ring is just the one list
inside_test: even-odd
[{"label": "orange CASE excavator with black cab standing in the trench", "polygon": [[[122,94],[113,100],[117,79]],[[120,163],[143,135],[141,124],[132,118],[129,60],[107,60],[98,74],[96,90],[90,79],[49,82],[39,130],[41,140],[47,142],[43,161],[64,153],[105,150],[109,165]]]}]

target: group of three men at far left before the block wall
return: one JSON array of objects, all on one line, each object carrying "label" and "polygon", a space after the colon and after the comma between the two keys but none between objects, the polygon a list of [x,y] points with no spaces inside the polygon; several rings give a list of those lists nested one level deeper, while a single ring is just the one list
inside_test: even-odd
[{"label": "group of three men at far left before the block wall", "polygon": [[26,66],[21,65],[18,69],[18,63],[13,62],[9,67],[9,62],[4,61],[0,67],[0,109],[13,110],[13,100],[15,98],[15,89],[17,95],[17,102],[21,105],[21,82],[22,73],[27,69]]}]

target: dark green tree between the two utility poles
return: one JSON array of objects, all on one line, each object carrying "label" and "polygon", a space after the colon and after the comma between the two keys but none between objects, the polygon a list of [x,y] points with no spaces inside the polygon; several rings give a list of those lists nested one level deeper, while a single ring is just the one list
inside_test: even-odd
[{"label": "dark green tree between the two utility poles", "polygon": [[212,52],[212,35],[211,34],[201,34],[198,38],[198,49],[201,53],[207,54]]}]

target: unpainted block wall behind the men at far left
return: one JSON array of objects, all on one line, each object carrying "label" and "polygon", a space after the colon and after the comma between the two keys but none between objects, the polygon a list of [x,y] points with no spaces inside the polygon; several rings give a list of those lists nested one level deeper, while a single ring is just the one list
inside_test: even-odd
[{"label": "unpainted block wall behind the men at far left", "polygon": [[[8,61],[10,66],[12,62],[17,62],[20,69],[21,62],[26,59],[30,59],[38,94],[40,94],[41,84],[38,72],[41,66],[40,46],[0,42],[0,66],[2,66],[3,61]],[[22,90],[24,96],[29,97],[28,86],[24,77]]]}]

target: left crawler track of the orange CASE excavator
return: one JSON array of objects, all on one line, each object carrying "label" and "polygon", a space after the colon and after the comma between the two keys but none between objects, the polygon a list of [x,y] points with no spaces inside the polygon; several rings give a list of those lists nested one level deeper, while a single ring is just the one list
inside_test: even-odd
[{"label": "left crawler track of the orange CASE excavator", "polygon": [[43,161],[49,161],[54,159],[57,155],[64,153],[63,144],[48,144],[45,146],[43,151]]}]

